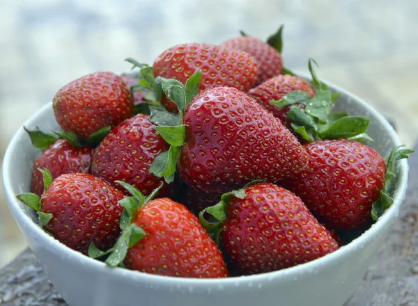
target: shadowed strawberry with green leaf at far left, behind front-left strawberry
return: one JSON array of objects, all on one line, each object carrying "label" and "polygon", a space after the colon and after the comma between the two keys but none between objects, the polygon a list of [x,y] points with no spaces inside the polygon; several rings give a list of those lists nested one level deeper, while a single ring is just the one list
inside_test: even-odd
[{"label": "shadowed strawberry with green leaf at far left, behind front-left strawberry", "polygon": [[[42,154],[33,162],[31,192],[42,195],[44,184],[40,169],[48,169],[55,179],[66,173],[88,173],[91,166],[93,147],[80,147],[77,140],[57,139],[55,135],[45,134],[39,130],[30,131],[24,127],[34,147]],[[63,136],[63,134],[58,134]],[[70,142],[71,141],[71,142]]]}]

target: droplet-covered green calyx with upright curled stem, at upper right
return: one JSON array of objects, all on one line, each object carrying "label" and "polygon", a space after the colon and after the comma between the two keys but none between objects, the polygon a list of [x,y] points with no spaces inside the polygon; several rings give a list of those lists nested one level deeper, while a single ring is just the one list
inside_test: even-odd
[{"label": "droplet-covered green calyx with upright curled stem, at upper right", "polygon": [[[292,122],[293,131],[309,142],[339,138],[372,141],[373,139],[366,134],[370,118],[348,113],[331,113],[334,99],[339,97],[339,94],[332,94],[326,84],[318,79],[313,63],[316,64],[313,59],[309,59],[311,83],[316,90],[314,97],[302,90],[294,90],[279,101],[270,101],[270,104],[279,108],[291,105],[288,119]],[[302,104],[304,108],[295,104]]]}]

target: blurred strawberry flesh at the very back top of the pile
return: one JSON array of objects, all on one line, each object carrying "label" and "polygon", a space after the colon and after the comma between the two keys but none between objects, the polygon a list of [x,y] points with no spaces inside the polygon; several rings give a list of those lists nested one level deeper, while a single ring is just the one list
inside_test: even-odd
[{"label": "blurred strawberry flesh at the very back top of the pile", "polygon": [[222,42],[221,46],[245,51],[254,57],[258,66],[258,72],[253,87],[281,74],[283,63],[279,51],[268,45],[268,43],[263,42],[263,40],[242,36],[226,40]]}]

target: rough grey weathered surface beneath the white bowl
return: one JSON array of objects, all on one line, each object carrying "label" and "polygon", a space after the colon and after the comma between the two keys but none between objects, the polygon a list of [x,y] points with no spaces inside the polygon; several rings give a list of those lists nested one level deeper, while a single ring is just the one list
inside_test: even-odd
[{"label": "rough grey weathered surface beneath the white bowl", "polygon": [[[359,288],[344,306],[418,306],[417,153],[412,154],[409,164],[409,188],[401,213]],[[47,280],[33,253],[26,250],[0,271],[0,305],[67,304]]]}]

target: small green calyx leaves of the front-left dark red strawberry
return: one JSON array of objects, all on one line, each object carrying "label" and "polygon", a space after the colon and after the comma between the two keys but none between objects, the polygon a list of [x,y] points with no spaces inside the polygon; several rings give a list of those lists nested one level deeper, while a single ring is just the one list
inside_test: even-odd
[{"label": "small green calyx leaves of the front-left dark red strawberry", "polygon": [[[44,192],[47,191],[49,186],[52,184],[52,174],[49,172],[47,168],[38,170],[42,173],[43,181],[44,181]],[[16,196],[17,200],[20,200],[24,204],[26,204],[27,207],[33,209],[38,213],[38,223],[40,227],[44,227],[49,223],[49,220],[52,219],[52,214],[44,213],[41,211],[41,204],[40,204],[40,198],[35,193],[22,193],[20,195]]]}]

